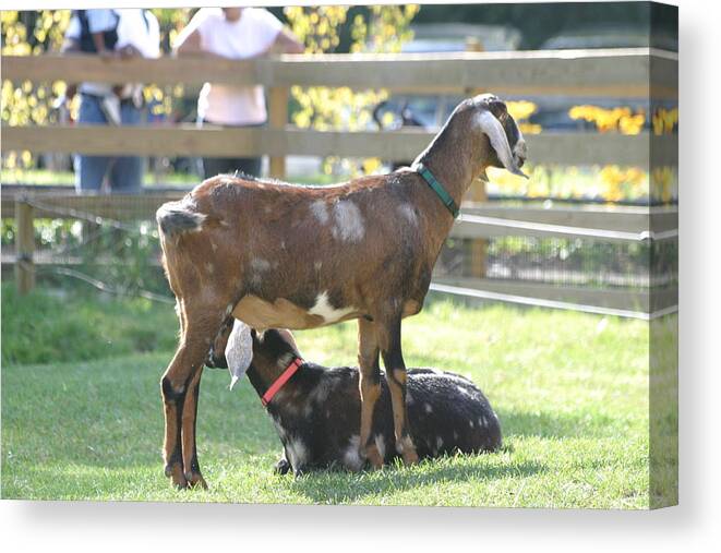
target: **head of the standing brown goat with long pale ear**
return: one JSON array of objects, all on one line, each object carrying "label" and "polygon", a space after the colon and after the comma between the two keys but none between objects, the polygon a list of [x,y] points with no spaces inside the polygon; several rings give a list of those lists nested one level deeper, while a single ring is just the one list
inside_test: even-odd
[{"label": "head of the standing brown goat with long pale ear", "polygon": [[470,127],[488,136],[491,144],[488,166],[506,168],[528,178],[520,168],[526,161],[526,141],[506,105],[493,94],[481,94],[466,100],[458,112],[470,118]]}]

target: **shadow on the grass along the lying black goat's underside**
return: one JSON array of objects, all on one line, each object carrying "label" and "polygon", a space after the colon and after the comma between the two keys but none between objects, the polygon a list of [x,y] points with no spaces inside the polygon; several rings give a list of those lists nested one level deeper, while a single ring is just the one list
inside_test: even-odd
[{"label": "shadow on the grass along the lying black goat's underside", "polygon": [[477,462],[484,457],[486,455],[432,459],[413,468],[386,467],[382,471],[358,474],[344,470],[321,470],[295,479],[290,486],[314,503],[349,503],[366,496],[384,496],[434,484],[525,478],[548,470],[533,461],[502,466]]}]

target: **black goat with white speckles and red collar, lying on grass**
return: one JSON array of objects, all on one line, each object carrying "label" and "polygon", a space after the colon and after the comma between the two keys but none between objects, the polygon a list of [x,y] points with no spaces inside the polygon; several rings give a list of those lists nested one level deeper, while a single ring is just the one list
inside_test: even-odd
[{"label": "black goat with white speckles and red collar, lying on grass", "polygon": [[[257,333],[240,321],[235,322],[226,346],[221,336],[216,339],[207,364],[228,366],[232,382],[248,371],[283,443],[284,456],[276,466],[279,472],[300,474],[328,467],[356,471],[365,466],[359,450],[358,368],[327,369],[303,361],[290,332]],[[492,452],[501,446],[495,412],[464,376],[410,369],[406,401],[410,436],[421,459]],[[390,394],[383,376],[371,437],[384,464],[398,457]]]}]

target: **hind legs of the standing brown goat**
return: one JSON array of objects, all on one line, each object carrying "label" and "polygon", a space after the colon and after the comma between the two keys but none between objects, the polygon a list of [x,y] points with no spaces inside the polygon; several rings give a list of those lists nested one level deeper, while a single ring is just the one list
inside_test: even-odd
[{"label": "hind legs of the standing brown goat", "polygon": [[[213,309],[207,310],[209,313],[214,313],[214,311]],[[190,473],[196,474],[195,483],[202,481],[200,469],[197,469],[197,457],[194,454],[200,372],[207,357],[211,340],[220,328],[223,309],[219,310],[217,316],[208,315],[207,312],[201,310],[196,316],[188,311],[183,314],[184,327],[180,345],[160,381],[165,407],[165,443],[163,446],[165,473],[178,488],[188,488],[184,461],[190,464],[188,467]],[[190,399],[189,392],[191,392]],[[187,406],[188,411],[185,411]],[[191,446],[189,455],[183,455],[183,432],[188,445]]]}]

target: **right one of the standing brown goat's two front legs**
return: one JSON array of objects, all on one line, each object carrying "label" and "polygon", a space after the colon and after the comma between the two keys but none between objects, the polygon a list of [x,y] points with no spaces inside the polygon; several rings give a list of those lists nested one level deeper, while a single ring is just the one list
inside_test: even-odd
[{"label": "right one of the standing brown goat's two front legs", "polygon": [[383,354],[386,381],[393,404],[393,428],[396,435],[396,450],[406,465],[418,462],[416,446],[408,430],[406,409],[406,362],[400,348],[400,316],[388,324],[378,323],[378,344]]}]

